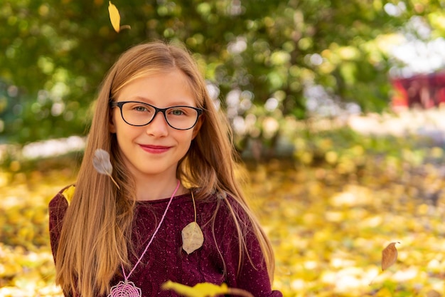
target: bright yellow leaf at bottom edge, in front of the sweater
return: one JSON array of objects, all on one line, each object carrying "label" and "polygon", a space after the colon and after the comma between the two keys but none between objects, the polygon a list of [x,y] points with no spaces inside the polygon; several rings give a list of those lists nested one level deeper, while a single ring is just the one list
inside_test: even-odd
[{"label": "bright yellow leaf at bottom edge, in front of the sweater", "polygon": [[163,283],[162,288],[164,290],[173,290],[176,293],[186,297],[211,297],[229,293],[225,283],[223,283],[221,286],[217,286],[213,283],[198,283],[195,286],[190,287],[181,283],[167,281],[166,283]]}]

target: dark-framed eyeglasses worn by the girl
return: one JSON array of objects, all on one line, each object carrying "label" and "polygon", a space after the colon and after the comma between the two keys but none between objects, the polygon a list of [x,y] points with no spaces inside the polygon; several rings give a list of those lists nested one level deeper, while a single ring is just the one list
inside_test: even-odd
[{"label": "dark-framed eyeglasses worn by the girl", "polygon": [[198,118],[203,114],[200,108],[191,106],[171,106],[170,108],[156,108],[148,103],[137,101],[110,102],[111,108],[119,107],[122,120],[132,126],[149,125],[158,113],[163,114],[167,124],[176,130],[189,130],[198,122]]}]

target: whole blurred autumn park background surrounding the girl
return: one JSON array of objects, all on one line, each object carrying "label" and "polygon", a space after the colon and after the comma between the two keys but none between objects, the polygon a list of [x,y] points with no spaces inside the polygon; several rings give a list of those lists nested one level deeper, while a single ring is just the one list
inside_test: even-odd
[{"label": "whole blurred autumn park background surrounding the girl", "polygon": [[[444,296],[445,1],[0,0],[0,296],[60,296],[47,204],[119,54],[193,52],[284,296]],[[400,241],[381,272],[382,249]]]}]

